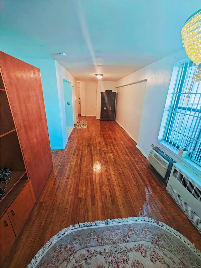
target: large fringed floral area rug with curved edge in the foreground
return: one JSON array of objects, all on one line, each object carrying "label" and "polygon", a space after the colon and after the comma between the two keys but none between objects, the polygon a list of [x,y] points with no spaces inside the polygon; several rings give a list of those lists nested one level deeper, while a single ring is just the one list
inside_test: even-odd
[{"label": "large fringed floral area rug with curved edge in the foreground", "polygon": [[201,252],[179,232],[150,218],[80,223],[51,238],[27,268],[200,267]]}]

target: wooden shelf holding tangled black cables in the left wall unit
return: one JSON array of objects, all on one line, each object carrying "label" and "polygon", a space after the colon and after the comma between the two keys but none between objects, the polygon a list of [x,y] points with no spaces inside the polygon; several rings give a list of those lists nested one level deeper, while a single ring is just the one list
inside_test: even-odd
[{"label": "wooden shelf holding tangled black cables in the left wall unit", "polygon": [[[17,171],[17,172],[23,172],[23,171]],[[15,172],[12,172],[11,174],[13,174],[13,173],[15,173]],[[25,176],[23,176],[23,175],[25,175]],[[24,172],[23,175],[21,176],[21,178],[19,180],[16,181],[16,183],[14,185],[15,187],[13,186],[12,189],[10,189],[9,194],[6,196],[6,198],[4,196],[2,198],[2,200],[0,201],[1,213],[3,213],[4,211],[7,210],[7,208],[15,200],[17,195],[20,193],[20,191],[26,185],[26,183],[28,183],[29,180],[27,178],[26,172]],[[13,176],[10,180],[12,180],[12,179],[14,179]],[[3,183],[1,183],[1,184],[3,184]],[[8,180],[8,185],[9,185],[9,180]],[[8,186],[7,186],[7,188],[8,188]],[[7,190],[7,188],[6,188],[6,190]]]}]

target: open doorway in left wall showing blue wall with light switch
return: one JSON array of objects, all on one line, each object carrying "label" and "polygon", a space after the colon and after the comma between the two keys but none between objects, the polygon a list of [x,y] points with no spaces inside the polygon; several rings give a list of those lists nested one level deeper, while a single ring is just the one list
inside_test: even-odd
[{"label": "open doorway in left wall showing blue wall with light switch", "polygon": [[64,102],[66,112],[67,135],[69,137],[74,128],[72,85],[70,82],[64,79],[63,79],[63,92],[64,92]]}]

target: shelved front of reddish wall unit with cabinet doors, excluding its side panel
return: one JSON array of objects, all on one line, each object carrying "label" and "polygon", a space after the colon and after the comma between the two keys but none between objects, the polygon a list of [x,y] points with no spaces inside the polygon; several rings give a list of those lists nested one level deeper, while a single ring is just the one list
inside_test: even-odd
[{"label": "shelved front of reddish wall unit with cabinet doors, excluding its side panel", "polygon": [[[23,153],[15,128],[14,118],[8,100],[6,87],[3,82],[4,80],[2,78],[1,68],[0,73],[0,168],[8,168],[12,171],[8,176],[8,178],[11,178],[7,180],[8,184],[5,189],[5,194],[0,200],[1,236],[8,237],[6,243],[5,240],[2,239],[0,241],[0,265],[2,265],[15,241],[16,236],[19,234],[24,225],[24,222],[29,216],[32,207],[34,206],[35,197],[33,194],[33,189],[30,185],[25,189],[26,184],[29,182],[29,178],[27,176]],[[4,189],[5,182],[0,183],[0,186],[2,189]],[[18,198],[19,194],[20,198]],[[22,204],[21,200],[25,195],[27,196],[26,204]],[[25,206],[27,206],[27,209],[24,210]],[[12,211],[14,211],[13,207],[15,207],[16,212],[14,213],[14,217],[11,220],[10,216],[8,215],[8,211],[11,211],[12,213]],[[24,215],[21,215],[21,213],[24,213]],[[4,223],[4,218],[6,219],[6,222],[8,222],[6,225]],[[17,230],[17,232],[14,230]]]}]

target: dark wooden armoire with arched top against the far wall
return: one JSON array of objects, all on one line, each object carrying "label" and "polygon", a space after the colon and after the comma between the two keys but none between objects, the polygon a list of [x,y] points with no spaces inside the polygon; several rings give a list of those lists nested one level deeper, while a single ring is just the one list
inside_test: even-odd
[{"label": "dark wooden armoire with arched top against the far wall", "polygon": [[100,120],[115,120],[116,94],[112,90],[101,93]]}]

